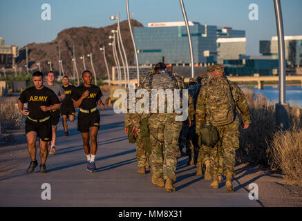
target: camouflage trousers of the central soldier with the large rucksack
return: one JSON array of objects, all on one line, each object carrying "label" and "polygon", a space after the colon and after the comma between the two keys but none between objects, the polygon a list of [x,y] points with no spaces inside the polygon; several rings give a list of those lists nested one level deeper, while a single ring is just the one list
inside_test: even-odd
[{"label": "camouflage trousers of the central soldier with the large rucksack", "polygon": [[151,166],[154,177],[176,181],[178,137],[182,122],[172,113],[156,113],[149,118]]}]

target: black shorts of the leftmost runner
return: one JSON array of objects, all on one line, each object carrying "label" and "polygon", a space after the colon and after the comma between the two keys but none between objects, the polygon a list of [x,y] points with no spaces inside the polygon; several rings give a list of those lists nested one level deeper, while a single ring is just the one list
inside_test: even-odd
[{"label": "black shorts of the leftmost runner", "polygon": [[51,137],[53,136],[50,119],[45,122],[38,123],[27,118],[25,122],[25,133],[27,134],[30,131],[37,132],[38,137],[44,142],[51,141]]}]

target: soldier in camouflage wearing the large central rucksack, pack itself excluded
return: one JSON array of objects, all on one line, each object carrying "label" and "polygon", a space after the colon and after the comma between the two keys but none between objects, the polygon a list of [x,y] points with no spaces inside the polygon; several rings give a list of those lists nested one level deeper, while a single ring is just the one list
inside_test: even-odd
[{"label": "soldier in camouflage wearing the large central rucksack, pack itself excluded", "polygon": [[[173,84],[176,88],[179,88],[180,90],[184,88],[182,77],[176,73],[167,71],[165,64],[156,64],[154,70],[154,73],[149,73],[142,81],[142,88],[149,90],[150,95],[151,89],[153,88],[153,82],[155,82],[155,79],[158,79],[158,76],[164,76],[164,73],[173,79]],[[174,112],[151,113],[151,116],[149,117],[152,148],[152,183],[164,187],[166,192],[175,191],[173,182],[176,181],[178,137],[182,128],[182,122],[176,121],[175,117],[176,113]],[[162,179],[166,180],[165,184]]]}]

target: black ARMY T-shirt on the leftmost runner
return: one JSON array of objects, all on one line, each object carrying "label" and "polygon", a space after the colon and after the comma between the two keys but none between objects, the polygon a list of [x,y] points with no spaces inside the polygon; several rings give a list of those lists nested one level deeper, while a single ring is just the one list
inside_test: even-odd
[{"label": "black ARMY T-shirt on the leftmost runner", "polygon": [[53,90],[45,86],[39,90],[35,86],[27,88],[21,93],[19,101],[22,104],[28,103],[28,117],[32,119],[44,119],[50,116],[50,111],[42,111],[41,106],[52,106],[60,103]]}]

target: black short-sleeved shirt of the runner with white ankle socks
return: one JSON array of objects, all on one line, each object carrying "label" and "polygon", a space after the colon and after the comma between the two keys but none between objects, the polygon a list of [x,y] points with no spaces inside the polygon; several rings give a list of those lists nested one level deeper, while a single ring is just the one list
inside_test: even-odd
[{"label": "black short-sleeved shirt of the runner with white ankle socks", "polygon": [[97,101],[99,99],[101,99],[103,94],[102,94],[100,87],[95,86],[93,84],[91,84],[91,87],[89,87],[89,88],[87,88],[85,86],[78,86],[73,95],[73,99],[78,100],[86,90],[89,91],[89,95],[88,95],[88,97],[83,99],[83,102],[79,106],[79,108],[82,108],[84,110],[90,110],[97,106]]}]

